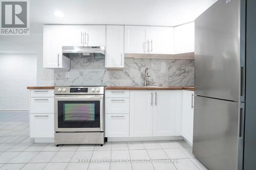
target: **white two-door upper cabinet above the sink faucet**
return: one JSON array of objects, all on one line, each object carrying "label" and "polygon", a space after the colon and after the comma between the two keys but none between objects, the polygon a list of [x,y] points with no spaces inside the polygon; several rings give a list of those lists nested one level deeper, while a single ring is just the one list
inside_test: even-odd
[{"label": "white two-door upper cabinet above the sink faucet", "polygon": [[125,53],[173,54],[174,28],[125,26]]}]

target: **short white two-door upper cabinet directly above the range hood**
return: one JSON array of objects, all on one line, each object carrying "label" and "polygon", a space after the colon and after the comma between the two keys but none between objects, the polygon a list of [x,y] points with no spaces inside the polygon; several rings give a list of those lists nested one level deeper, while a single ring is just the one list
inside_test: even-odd
[{"label": "short white two-door upper cabinet directly above the range hood", "polygon": [[105,25],[65,25],[62,46],[105,46]]}]

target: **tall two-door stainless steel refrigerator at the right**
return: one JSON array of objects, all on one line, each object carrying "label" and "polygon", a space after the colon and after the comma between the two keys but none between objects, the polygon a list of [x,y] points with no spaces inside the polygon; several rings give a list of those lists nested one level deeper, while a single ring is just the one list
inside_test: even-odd
[{"label": "tall two-door stainless steel refrigerator at the right", "polygon": [[256,169],[255,2],[219,0],[195,20],[193,153],[209,169]]}]

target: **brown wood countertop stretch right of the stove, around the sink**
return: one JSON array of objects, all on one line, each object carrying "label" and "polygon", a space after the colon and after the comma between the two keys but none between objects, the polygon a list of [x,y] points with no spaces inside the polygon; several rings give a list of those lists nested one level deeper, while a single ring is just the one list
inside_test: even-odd
[{"label": "brown wood countertop stretch right of the stove, around the sink", "polygon": [[194,87],[186,86],[170,86],[170,87],[158,87],[158,86],[106,86],[105,90],[191,90],[194,91]]}]

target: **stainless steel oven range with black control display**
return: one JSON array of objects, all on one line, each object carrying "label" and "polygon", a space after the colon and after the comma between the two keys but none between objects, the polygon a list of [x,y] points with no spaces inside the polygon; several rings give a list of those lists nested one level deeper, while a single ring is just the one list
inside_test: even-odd
[{"label": "stainless steel oven range with black control display", "polygon": [[104,143],[104,87],[55,86],[55,144]]}]

